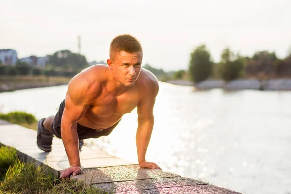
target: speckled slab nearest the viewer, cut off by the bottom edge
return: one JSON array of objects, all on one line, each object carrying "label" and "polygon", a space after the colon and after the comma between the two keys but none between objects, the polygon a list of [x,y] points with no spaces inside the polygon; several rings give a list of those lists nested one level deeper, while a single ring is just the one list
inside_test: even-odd
[{"label": "speckled slab nearest the viewer, cut off by the bottom edge", "polygon": [[191,185],[138,191],[116,192],[116,194],[240,194],[214,185]]}]

